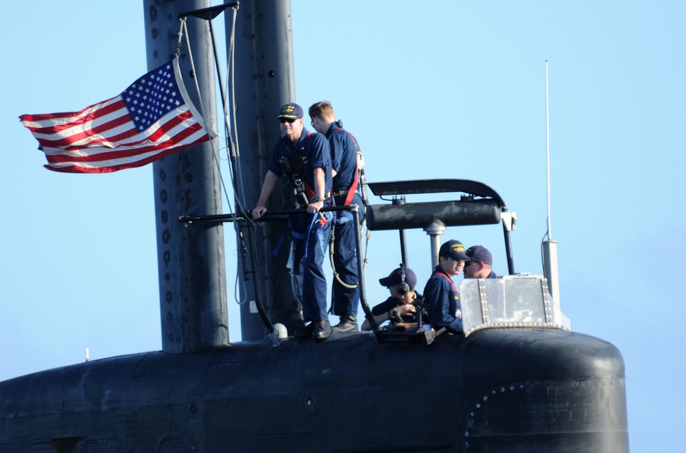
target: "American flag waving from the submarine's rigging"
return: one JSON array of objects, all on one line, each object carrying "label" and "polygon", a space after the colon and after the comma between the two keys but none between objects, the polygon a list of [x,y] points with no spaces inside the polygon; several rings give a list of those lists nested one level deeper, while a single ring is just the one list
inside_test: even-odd
[{"label": "American flag waving from the submarine's rigging", "polygon": [[40,143],[45,168],[67,173],[141,167],[217,136],[193,107],[176,58],[80,112],[19,119]]}]

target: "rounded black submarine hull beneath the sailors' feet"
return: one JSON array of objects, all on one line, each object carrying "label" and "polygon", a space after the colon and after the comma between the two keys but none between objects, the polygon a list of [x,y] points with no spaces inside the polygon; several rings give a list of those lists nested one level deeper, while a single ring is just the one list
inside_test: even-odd
[{"label": "rounded black submarine hull beneath the sailors' feet", "polygon": [[628,452],[617,348],[545,328],[119,356],[1,382],[0,402],[12,452]]}]

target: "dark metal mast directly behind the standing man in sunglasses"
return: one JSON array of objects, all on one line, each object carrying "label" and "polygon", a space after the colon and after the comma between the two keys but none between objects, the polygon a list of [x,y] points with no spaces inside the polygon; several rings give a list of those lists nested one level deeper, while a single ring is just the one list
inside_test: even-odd
[{"label": "dark metal mast directly behind the standing man in sunglasses", "polygon": [[[239,69],[235,72],[235,103],[243,176],[239,184],[244,187],[246,208],[252,209],[259,198],[265,164],[276,139],[281,136],[276,115],[283,104],[297,102],[289,0],[241,0],[236,21],[235,67]],[[270,210],[281,209],[281,193],[277,186],[268,205]],[[287,324],[289,317],[300,311],[287,270],[289,240],[284,236],[285,227],[285,221],[257,226],[253,261],[257,262],[258,269],[244,269],[245,263],[251,260],[239,260],[244,340],[263,339],[265,332],[263,321],[256,315],[255,291],[247,280],[256,276],[255,271],[261,279],[263,306],[275,323]],[[244,248],[241,238],[238,241],[239,249]]]}]

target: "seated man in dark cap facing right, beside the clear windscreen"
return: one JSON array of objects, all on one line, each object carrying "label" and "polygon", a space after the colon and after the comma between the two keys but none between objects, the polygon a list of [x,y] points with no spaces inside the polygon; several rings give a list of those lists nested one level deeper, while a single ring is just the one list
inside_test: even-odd
[{"label": "seated man in dark cap facing right, beside the clear windscreen", "polygon": [[440,246],[438,266],[431,274],[424,288],[424,302],[429,306],[429,317],[434,328],[447,328],[453,333],[462,333],[462,310],[460,294],[453,283],[464,269],[464,245],[452,239]]}]

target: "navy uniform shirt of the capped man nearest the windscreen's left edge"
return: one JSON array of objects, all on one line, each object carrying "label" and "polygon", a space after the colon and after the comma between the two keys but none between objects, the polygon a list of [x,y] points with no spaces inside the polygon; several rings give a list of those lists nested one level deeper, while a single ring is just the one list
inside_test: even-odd
[{"label": "navy uniform shirt of the capped man nearest the windscreen's left edge", "polygon": [[440,266],[436,266],[424,288],[424,300],[429,304],[429,317],[434,328],[445,327],[453,332],[462,332],[460,295]]}]

